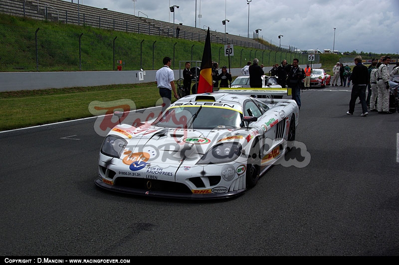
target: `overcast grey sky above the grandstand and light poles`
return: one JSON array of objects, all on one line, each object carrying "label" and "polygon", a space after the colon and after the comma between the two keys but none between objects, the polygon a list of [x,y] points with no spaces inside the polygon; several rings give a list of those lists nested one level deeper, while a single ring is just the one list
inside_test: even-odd
[{"label": "overcast grey sky above the grandstand and light poles", "polygon": [[[78,0],[65,0],[77,3]],[[136,16],[248,36],[248,0],[79,0],[79,4],[108,8]],[[197,8],[196,8],[197,2]],[[140,11],[140,14],[139,14]],[[197,12],[197,19],[196,19]],[[399,0],[251,0],[249,37],[301,50],[334,49],[399,54]],[[199,15],[201,17],[199,17]],[[335,40],[334,40],[334,28]]]}]

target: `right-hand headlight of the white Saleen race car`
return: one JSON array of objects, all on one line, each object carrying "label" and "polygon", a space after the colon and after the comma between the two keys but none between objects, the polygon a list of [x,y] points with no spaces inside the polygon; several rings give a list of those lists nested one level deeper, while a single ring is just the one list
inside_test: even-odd
[{"label": "right-hand headlight of the white Saleen race car", "polygon": [[241,144],[239,142],[224,142],[215,145],[207,151],[197,164],[220,164],[228,163],[241,155]]}]

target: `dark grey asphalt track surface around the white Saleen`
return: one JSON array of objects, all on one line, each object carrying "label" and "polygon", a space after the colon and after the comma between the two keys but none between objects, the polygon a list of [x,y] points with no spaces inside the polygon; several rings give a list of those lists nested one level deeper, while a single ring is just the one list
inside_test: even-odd
[{"label": "dark grey asphalt track surface around the white Saleen", "polygon": [[349,88],[301,97],[310,163],[229,200],[97,188],[94,119],[0,133],[0,255],[398,256],[399,114],[346,115]]}]

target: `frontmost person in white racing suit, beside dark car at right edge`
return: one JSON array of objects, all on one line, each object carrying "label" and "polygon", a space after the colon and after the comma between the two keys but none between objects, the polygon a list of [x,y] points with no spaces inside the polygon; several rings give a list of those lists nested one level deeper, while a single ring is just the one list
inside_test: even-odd
[{"label": "frontmost person in white racing suit, beside dark car at right edge", "polygon": [[390,112],[390,102],[389,102],[389,68],[388,65],[391,62],[390,56],[385,56],[383,58],[383,63],[380,65],[377,71],[377,87],[378,87],[378,102],[377,111],[379,114],[392,114]]}]

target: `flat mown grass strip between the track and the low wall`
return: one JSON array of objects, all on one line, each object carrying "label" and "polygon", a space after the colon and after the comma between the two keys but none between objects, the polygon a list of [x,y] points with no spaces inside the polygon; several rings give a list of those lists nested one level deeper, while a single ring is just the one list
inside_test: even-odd
[{"label": "flat mown grass strip between the track and the low wall", "polygon": [[132,100],[136,109],[153,107],[160,98],[154,83],[47,89],[0,93],[0,131],[93,117],[89,104]]}]

